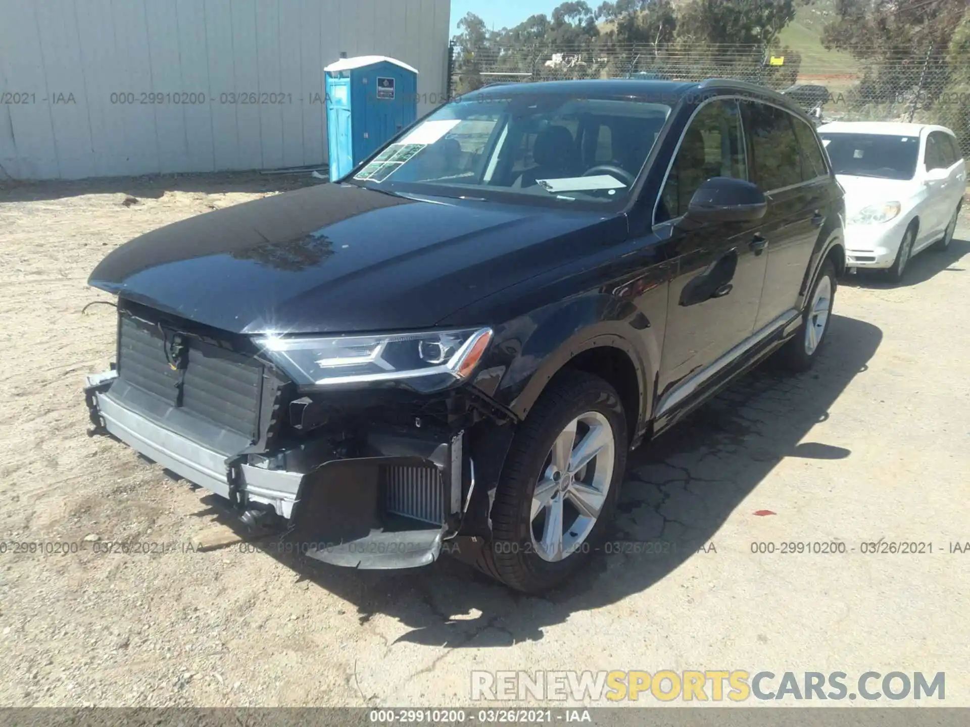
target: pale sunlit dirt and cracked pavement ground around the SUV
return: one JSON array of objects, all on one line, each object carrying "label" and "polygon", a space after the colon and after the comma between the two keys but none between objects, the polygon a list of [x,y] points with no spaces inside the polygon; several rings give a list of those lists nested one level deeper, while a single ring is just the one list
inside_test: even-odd
[{"label": "pale sunlit dirt and cracked pavement ground around the SUV", "polygon": [[[970,220],[901,286],[846,280],[812,373],[762,367],[635,454],[611,537],[673,553],[602,554],[527,598],[446,559],[182,552],[224,517],[216,498],[86,435],[82,378],[114,339],[111,306],[82,312],[110,300],[88,272],[148,230],[314,181],[0,187],[0,705],[443,706],[469,704],[475,669],[716,668],[945,671],[946,704],[970,705],[970,553],[948,552],[970,541]],[[880,537],[934,550],[859,552]],[[789,540],[847,550],[751,550]],[[113,541],[172,550],[94,553]]]}]

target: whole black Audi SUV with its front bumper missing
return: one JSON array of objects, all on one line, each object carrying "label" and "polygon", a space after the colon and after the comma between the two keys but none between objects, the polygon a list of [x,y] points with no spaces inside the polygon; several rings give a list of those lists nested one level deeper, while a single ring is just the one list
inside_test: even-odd
[{"label": "whole black Audi SUV with its front bumper missing", "polygon": [[627,453],[778,351],[819,355],[842,191],[737,81],[492,86],[333,183],[114,250],[92,431],[359,568],[525,591],[596,551]]}]

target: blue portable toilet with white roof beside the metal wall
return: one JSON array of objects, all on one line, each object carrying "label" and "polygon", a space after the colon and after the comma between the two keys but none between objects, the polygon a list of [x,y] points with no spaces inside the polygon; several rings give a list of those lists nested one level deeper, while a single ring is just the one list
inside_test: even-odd
[{"label": "blue portable toilet with white roof beside the metal wall", "polygon": [[339,179],[417,118],[418,72],[384,55],[341,58],[323,70],[330,178]]}]

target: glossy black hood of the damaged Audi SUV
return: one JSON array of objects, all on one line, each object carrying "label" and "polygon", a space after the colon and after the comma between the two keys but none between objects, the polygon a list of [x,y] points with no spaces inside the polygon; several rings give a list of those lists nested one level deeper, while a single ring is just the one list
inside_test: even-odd
[{"label": "glossy black hood of the damaged Audi SUV", "polygon": [[137,237],[88,282],[229,332],[420,329],[601,249],[618,217],[321,184]]}]

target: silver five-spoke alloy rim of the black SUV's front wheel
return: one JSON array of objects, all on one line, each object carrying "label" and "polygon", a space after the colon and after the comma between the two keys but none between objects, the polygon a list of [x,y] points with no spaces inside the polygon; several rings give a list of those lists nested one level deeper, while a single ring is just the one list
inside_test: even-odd
[{"label": "silver five-spoke alloy rim of the black SUV's front wheel", "polygon": [[605,416],[586,412],[559,433],[533,489],[530,530],[543,560],[575,553],[593,530],[613,479],[616,440]]}]

